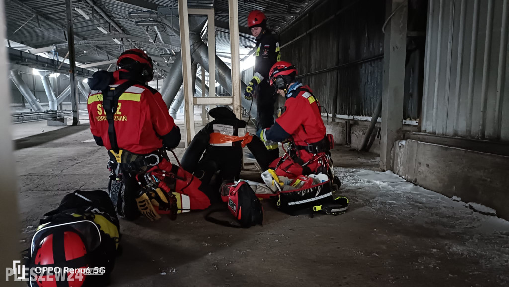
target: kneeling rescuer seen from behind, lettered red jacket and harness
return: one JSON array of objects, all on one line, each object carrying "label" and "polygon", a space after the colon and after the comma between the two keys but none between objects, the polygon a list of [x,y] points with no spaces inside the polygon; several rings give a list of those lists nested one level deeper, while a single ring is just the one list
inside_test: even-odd
[{"label": "kneeling rescuer seen from behind, lettered red jacket and harness", "polygon": [[[158,219],[151,199],[140,192],[135,174],[154,166],[174,171],[182,177],[192,176],[182,168],[172,165],[163,147],[173,149],[180,143],[180,130],[162,96],[146,85],[152,80],[152,59],[140,49],[124,51],[117,61],[119,70],[95,72],[89,85],[93,91],[88,99],[90,128],[96,143],[106,147],[110,156],[110,168],[119,178],[122,174],[125,190],[111,194],[117,212],[128,220],[139,216]],[[176,192],[188,196],[189,209],[202,210],[210,205],[208,197],[194,181],[192,187]],[[153,201],[152,201],[153,202]],[[139,212],[138,212],[139,211]]]}]

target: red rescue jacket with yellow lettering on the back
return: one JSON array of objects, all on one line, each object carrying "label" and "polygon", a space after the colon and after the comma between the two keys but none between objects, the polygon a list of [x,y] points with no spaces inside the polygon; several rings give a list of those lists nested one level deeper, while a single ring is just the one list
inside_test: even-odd
[{"label": "red rescue jacket with yellow lettering on the back", "polygon": [[[114,76],[110,87],[116,87],[129,79],[128,72],[124,70],[110,74]],[[88,99],[90,128],[97,144],[109,150],[108,121],[102,105],[102,92],[99,90],[101,85],[96,82],[90,85],[96,90],[89,94]],[[162,146],[175,148],[181,138],[179,127],[169,115],[161,94],[144,83],[136,83],[120,95],[115,113],[115,131],[119,148],[137,154],[150,153]]]}]

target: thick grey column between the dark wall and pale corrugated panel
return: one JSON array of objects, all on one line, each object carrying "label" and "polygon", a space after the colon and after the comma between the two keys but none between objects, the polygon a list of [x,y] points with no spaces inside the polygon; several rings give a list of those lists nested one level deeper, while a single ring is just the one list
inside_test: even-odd
[{"label": "thick grey column between the dark wall and pale corrugated panel", "polygon": [[[386,15],[392,14],[384,40],[384,75],[382,91],[382,133],[380,168],[391,170],[392,147],[403,125],[405,56],[407,38],[407,0],[387,0]],[[400,7],[403,5],[402,7]]]}]

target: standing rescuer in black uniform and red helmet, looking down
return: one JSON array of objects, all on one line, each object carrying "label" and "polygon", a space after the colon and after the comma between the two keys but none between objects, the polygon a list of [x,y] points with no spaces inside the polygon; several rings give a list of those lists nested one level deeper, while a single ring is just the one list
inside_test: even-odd
[{"label": "standing rescuer in black uniform and red helmet, looking down", "polygon": [[[275,90],[269,84],[269,71],[272,65],[281,60],[279,43],[270,30],[267,29],[267,18],[261,11],[251,11],[247,16],[247,27],[256,37],[256,60],[254,62],[253,77],[244,91],[244,98],[252,100],[256,94],[258,107],[258,129],[270,127],[274,123]],[[271,156],[277,158],[279,149],[277,142],[265,143],[271,150]]]}]

